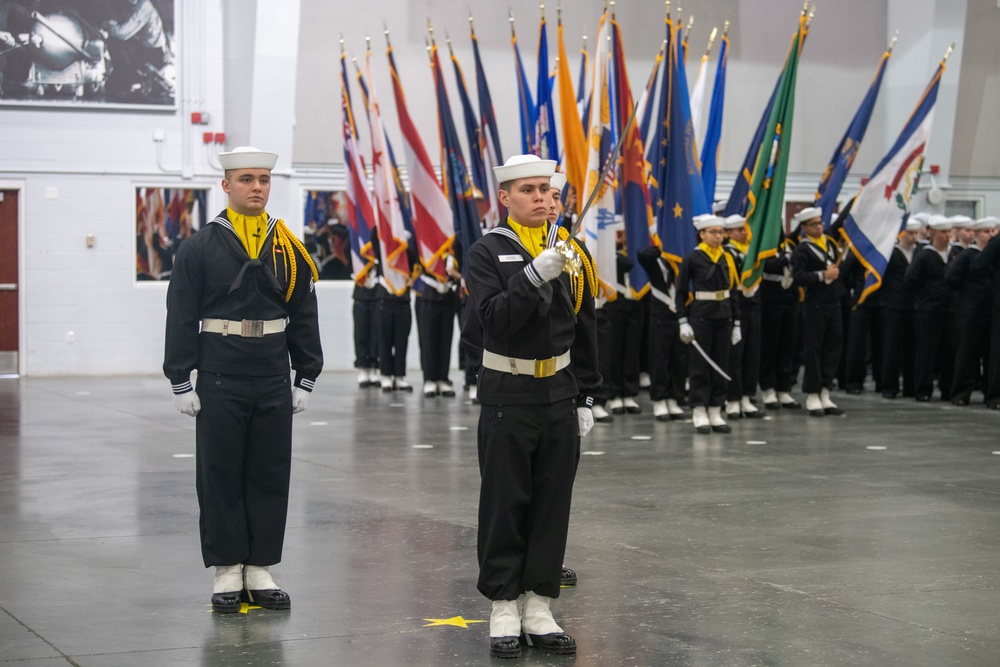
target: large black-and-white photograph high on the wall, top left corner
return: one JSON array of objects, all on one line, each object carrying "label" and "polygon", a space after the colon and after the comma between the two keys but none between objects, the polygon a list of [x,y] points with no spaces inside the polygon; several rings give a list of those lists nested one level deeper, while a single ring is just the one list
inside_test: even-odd
[{"label": "large black-and-white photograph high on the wall, top left corner", "polygon": [[3,0],[0,104],[175,109],[176,0]]}]

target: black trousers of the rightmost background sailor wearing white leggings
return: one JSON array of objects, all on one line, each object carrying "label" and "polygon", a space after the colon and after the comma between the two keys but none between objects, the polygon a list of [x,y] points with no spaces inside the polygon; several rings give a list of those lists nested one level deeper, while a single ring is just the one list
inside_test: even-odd
[{"label": "black trousers of the rightmost background sailor wearing white leggings", "polygon": [[840,302],[809,303],[802,306],[802,391],[818,394],[833,389],[840,365],[844,340],[844,320]]}]

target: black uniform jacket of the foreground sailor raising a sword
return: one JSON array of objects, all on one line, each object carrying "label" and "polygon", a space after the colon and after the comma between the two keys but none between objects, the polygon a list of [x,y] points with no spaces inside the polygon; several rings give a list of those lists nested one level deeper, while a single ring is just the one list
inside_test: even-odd
[{"label": "black uniform jacket of the foreground sailor raising a sword", "polygon": [[[557,232],[557,227],[549,226],[548,247],[555,243]],[[589,261],[586,246],[574,247],[577,245]],[[484,366],[479,371],[477,397],[487,405],[540,405],[578,397],[582,405],[589,406],[601,386],[597,320],[589,281],[586,276],[579,281],[583,303],[575,313],[569,274],[536,287],[529,278],[530,272],[537,280],[537,274],[528,268],[531,261],[506,220],[472,244],[466,255],[465,280],[476,317],[470,313],[462,338],[466,344],[478,343],[494,354],[518,359],[548,359],[570,350],[570,364],[547,378]],[[477,325],[481,326],[481,342],[470,331]]]}]

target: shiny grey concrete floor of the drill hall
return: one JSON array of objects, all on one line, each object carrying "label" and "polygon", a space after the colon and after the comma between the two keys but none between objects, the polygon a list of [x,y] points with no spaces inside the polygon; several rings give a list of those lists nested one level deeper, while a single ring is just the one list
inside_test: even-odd
[{"label": "shiny grey concrete floor of the drill hall", "polygon": [[[1000,412],[834,398],[846,417],[730,435],[657,423],[646,397],[599,425],[566,556],[580,583],[556,603],[579,654],[520,662],[1000,664]],[[323,375],[273,568],[292,610],[222,616],[194,420],[166,381],[0,380],[0,663],[499,664],[475,588],[477,417]]]}]

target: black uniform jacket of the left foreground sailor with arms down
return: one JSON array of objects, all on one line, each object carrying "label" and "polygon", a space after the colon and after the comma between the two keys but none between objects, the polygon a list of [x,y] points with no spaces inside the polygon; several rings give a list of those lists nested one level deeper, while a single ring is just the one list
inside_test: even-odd
[{"label": "black uniform jacket of the left foreground sailor with arms down", "polygon": [[[276,224],[277,220],[270,218],[264,245],[255,260],[228,225],[225,211],[178,248],[167,289],[163,360],[163,373],[175,393],[190,389],[189,378],[195,368],[227,375],[280,375],[288,372],[289,357],[295,386],[312,390],[323,370],[312,271],[298,248],[275,248]],[[290,262],[284,261],[285,252],[294,252],[296,260],[295,288],[287,302],[285,294],[292,276],[286,274]],[[288,326],[283,333],[262,338],[199,333],[199,323],[205,318],[286,317]]]}]

